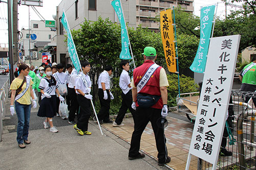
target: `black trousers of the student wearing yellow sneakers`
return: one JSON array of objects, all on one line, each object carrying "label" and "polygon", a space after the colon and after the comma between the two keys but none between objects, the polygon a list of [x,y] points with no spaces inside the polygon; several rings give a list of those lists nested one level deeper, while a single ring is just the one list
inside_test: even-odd
[{"label": "black trousers of the student wearing yellow sneakers", "polygon": [[83,132],[88,131],[88,122],[91,116],[91,101],[84,98],[81,94],[77,94],[77,101],[79,104],[79,117],[77,120],[77,128]]}]

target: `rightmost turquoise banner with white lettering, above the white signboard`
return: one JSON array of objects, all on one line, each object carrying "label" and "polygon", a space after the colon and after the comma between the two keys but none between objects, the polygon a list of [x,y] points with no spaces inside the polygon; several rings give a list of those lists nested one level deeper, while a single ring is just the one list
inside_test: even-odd
[{"label": "rightmost turquoise banner with white lettering, above the white signboard", "polygon": [[205,70],[214,12],[215,5],[201,8],[200,42],[196,57],[189,67],[194,72],[204,72]]}]

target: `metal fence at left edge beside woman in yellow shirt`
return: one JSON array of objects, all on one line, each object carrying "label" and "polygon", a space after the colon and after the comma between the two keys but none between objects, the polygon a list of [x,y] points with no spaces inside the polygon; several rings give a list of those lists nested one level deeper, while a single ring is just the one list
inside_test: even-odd
[{"label": "metal fence at left edge beside woman in yellow shirt", "polygon": [[5,113],[6,113],[5,101],[8,99],[9,89],[10,89],[10,83],[8,79],[0,91],[0,113],[1,113],[0,114],[0,142],[3,140],[2,139],[2,134],[4,132],[3,118],[5,117]]}]

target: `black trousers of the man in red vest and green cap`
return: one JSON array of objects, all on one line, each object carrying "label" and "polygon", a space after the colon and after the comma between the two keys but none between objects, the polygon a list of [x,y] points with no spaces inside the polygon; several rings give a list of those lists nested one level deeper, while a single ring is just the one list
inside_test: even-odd
[{"label": "black trousers of the man in red vest and green cap", "polygon": [[135,114],[137,117],[134,123],[129,157],[136,157],[139,155],[141,135],[150,121],[156,139],[158,162],[165,162],[167,159],[166,138],[164,129],[158,128],[157,126],[157,120],[161,117],[161,109],[137,107]]}]

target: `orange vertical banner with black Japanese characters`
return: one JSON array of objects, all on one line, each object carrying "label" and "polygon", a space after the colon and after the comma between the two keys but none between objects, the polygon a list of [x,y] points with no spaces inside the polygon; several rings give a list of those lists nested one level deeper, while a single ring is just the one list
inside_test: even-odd
[{"label": "orange vertical banner with black Japanese characters", "polygon": [[160,26],[164,56],[168,70],[170,72],[177,72],[172,9],[160,12]]}]

